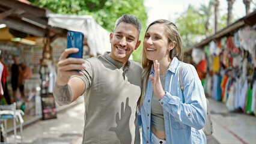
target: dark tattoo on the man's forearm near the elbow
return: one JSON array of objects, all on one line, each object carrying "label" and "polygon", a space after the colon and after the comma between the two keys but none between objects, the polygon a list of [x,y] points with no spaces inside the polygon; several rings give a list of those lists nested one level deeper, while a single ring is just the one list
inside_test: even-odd
[{"label": "dark tattoo on the man's forearm near the elbow", "polygon": [[61,86],[55,83],[53,87],[53,97],[58,104],[69,104],[72,101],[72,90],[68,84]]}]

